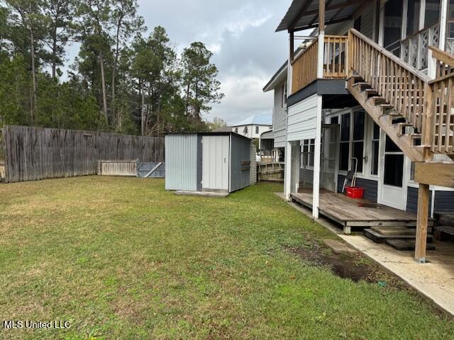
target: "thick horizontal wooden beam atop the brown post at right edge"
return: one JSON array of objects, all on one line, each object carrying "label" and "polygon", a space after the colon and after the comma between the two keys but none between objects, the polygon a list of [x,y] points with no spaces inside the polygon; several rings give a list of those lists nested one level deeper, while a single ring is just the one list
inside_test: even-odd
[{"label": "thick horizontal wooden beam atop the brown post at right edge", "polygon": [[454,163],[415,163],[414,181],[454,188]]}]

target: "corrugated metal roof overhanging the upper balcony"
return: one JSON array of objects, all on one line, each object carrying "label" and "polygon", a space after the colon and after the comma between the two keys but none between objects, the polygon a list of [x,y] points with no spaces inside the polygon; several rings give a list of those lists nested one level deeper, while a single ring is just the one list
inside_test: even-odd
[{"label": "corrugated metal roof overhanging the upper balcony", "polygon": [[[325,25],[351,20],[365,4],[373,6],[373,0],[325,0]],[[293,0],[276,32],[316,26],[319,26],[319,0]]]}]

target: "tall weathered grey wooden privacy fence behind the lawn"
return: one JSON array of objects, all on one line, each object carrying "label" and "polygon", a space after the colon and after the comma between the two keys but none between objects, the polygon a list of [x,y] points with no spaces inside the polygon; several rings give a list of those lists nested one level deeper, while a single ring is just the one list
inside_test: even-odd
[{"label": "tall weathered grey wooden privacy fence behind the lawn", "polygon": [[164,138],[6,125],[5,181],[93,175],[99,159],[164,161]]}]

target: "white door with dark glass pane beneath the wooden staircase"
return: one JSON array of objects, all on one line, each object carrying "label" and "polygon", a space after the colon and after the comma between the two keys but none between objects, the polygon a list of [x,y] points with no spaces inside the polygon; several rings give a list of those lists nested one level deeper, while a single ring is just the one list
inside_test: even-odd
[{"label": "white door with dark glass pane beneath the wooden staircase", "polygon": [[406,157],[382,131],[380,135],[379,203],[406,210]]}]

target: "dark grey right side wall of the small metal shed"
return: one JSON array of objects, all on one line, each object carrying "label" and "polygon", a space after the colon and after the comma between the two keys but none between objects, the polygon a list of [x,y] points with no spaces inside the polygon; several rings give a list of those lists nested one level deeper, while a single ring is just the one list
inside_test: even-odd
[{"label": "dark grey right side wall of the small metal shed", "polygon": [[[250,161],[250,141],[232,135],[231,137],[231,161],[230,161],[230,192],[245,188],[250,185],[250,169],[241,165],[241,162]],[[250,166],[252,166],[252,162]]]}]

